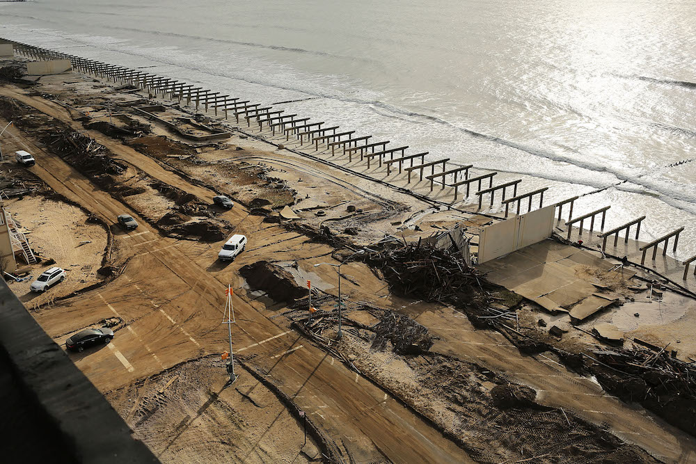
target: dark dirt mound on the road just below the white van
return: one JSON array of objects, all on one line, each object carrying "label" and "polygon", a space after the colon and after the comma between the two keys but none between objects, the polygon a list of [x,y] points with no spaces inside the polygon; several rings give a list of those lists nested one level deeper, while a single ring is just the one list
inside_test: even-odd
[{"label": "dark dirt mound on the road just below the white van", "polygon": [[265,291],[275,301],[292,302],[307,294],[307,289],[297,285],[292,274],[277,264],[258,261],[242,267],[239,273],[252,288]]}]

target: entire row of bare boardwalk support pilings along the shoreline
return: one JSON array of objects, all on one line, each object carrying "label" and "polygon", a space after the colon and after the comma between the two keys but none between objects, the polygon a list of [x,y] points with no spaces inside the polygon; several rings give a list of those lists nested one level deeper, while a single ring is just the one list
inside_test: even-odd
[{"label": "entire row of bare boardwalk support pilings along the shoreline", "polygon": [[[467,166],[455,166],[454,168],[447,168],[447,163],[450,161],[449,158],[438,159],[436,161],[426,161],[425,157],[428,152],[421,152],[417,154],[406,154],[408,146],[397,147],[397,148],[387,148],[389,141],[374,142],[372,136],[356,136],[356,131],[339,131],[340,127],[322,127],[324,122],[311,122],[310,118],[299,118],[297,114],[285,114],[284,110],[274,110],[272,106],[262,106],[262,104],[252,104],[248,100],[242,100],[239,97],[231,97],[230,95],[221,95],[219,92],[213,92],[212,90],[207,90],[202,87],[196,87],[186,82],[177,81],[175,79],[169,79],[166,77],[158,76],[157,74],[150,74],[148,72],[142,72],[139,70],[134,70],[127,67],[109,65],[107,63],[102,63],[100,61],[89,60],[86,58],[81,58],[79,56],[74,56],[70,54],[65,54],[59,51],[53,51],[49,49],[43,49],[41,47],[34,47],[33,45],[27,45],[22,42],[15,42],[13,40],[4,40],[5,42],[12,43],[17,54],[21,54],[26,58],[31,58],[33,60],[53,60],[53,59],[69,59],[72,63],[72,67],[79,72],[84,74],[90,74],[95,77],[101,77],[103,79],[111,80],[114,82],[120,82],[123,84],[129,84],[136,88],[141,88],[147,90],[148,93],[158,96],[161,95],[163,98],[177,99],[179,102],[186,100],[187,105],[191,105],[193,102],[196,105],[196,110],[203,109],[207,112],[209,109],[213,109],[215,115],[219,112],[224,113],[225,119],[228,119],[229,113],[234,115],[237,122],[241,120],[246,120],[247,127],[251,127],[251,121],[255,120],[258,124],[259,131],[263,130],[263,126],[266,125],[268,129],[272,131],[275,135],[276,132],[285,135],[285,140],[290,140],[290,136],[295,136],[299,140],[300,145],[303,145],[305,141],[307,143],[314,144],[315,149],[319,150],[319,144],[325,145],[326,150],[331,149],[331,156],[335,156],[335,151],[338,148],[342,150],[343,154],[347,154],[349,162],[353,161],[353,157],[360,157],[361,161],[367,160],[367,168],[370,168],[371,163],[377,159],[379,167],[383,165],[386,166],[387,176],[391,175],[393,166],[398,164],[398,173],[406,172],[407,182],[411,184],[411,175],[418,172],[419,182],[424,179],[425,170],[430,168],[430,174],[425,175],[425,179],[429,181],[430,191],[434,190],[434,185],[440,185],[441,189],[445,189],[445,186],[449,186],[454,189],[454,202],[459,198],[459,188],[466,189],[465,198],[468,198],[470,194],[470,188],[473,184],[476,185],[477,191],[475,195],[478,197],[478,207],[482,208],[484,195],[490,195],[490,205],[493,206],[496,193],[500,191],[502,196],[502,204],[505,205],[505,217],[509,216],[510,207],[516,206],[516,214],[521,214],[523,211],[522,205],[524,200],[527,201],[526,212],[532,211],[532,202],[535,197],[539,198],[539,208],[544,206],[544,192],[548,190],[548,187],[530,191],[527,193],[521,193],[518,195],[517,189],[518,185],[522,182],[522,179],[516,179],[510,182],[505,182],[503,184],[498,184],[493,186],[493,178],[498,174],[496,172],[486,173],[482,175],[477,175],[474,177],[469,177],[469,170],[473,168],[473,165]],[[386,159],[387,155],[389,159]],[[406,162],[409,166],[405,166]],[[436,168],[439,172],[435,172]],[[450,177],[450,183],[448,184],[448,177]],[[488,184],[488,185],[486,185]],[[508,189],[512,190],[512,197],[506,198]],[[555,208],[558,211],[558,221],[561,221],[562,209],[564,205],[569,205],[569,219],[564,223],[567,227],[568,239],[571,237],[571,230],[573,225],[578,224],[579,226],[579,237],[582,237],[585,225],[585,221],[590,222],[590,235],[594,232],[594,226],[596,223],[596,218],[601,215],[601,223],[599,225],[599,230],[602,232],[599,237],[603,239],[602,251],[606,250],[607,241],[610,237],[614,237],[614,246],[617,246],[619,240],[619,234],[625,232],[624,243],[628,243],[628,237],[631,227],[635,226],[635,239],[638,240],[640,234],[640,224],[644,220],[645,216],[637,218],[633,221],[629,221],[619,227],[615,227],[608,232],[603,232],[604,224],[606,220],[606,211],[610,209],[610,206],[596,209],[590,213],[583,214],[573,218],[573,207],[574,202],[578,197],[569,198],[562,202],[557,202]],[[663,256],[667,253],[667,248],[670,239],[674,238],[674,243],[672,246],[672,252],[676,253],[677,243],[679,242],[679,234],[684,230],[680,227],[677,230],[665,234],[646,245],[640,247],[642,251],[641,264],[645,263],[645,259],[649,250],[652,250],[652,259],[656,259],[658,246],[663,246]],[[688,271],[690,269],[690,264],[696,261],[696,256],[686,259],[683,262],[685,269],[683,274],[683,279],[686,280]],[[696,275],[696,266],[694,269],[694,275]]]}]

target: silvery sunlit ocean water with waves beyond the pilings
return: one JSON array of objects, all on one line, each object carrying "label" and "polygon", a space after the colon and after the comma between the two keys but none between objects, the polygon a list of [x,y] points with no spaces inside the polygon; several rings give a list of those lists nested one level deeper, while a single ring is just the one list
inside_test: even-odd
[{"label": "silvery sunlit ocean water with waves beyond the pilings", "polygon": [[292,101],[696,253],[693,0],[35,0],[0,37]]}]

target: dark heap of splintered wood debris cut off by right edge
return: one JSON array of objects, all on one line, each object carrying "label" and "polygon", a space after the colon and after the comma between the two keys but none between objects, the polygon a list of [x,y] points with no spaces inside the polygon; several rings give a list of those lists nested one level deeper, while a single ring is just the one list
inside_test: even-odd
[{"label": "dark heap of splintered wood debris cut off by right edge", "polygon": [[696,364],[663,349],[611,349],[585,355],[604,390],[636,401],[696,435]]}]

